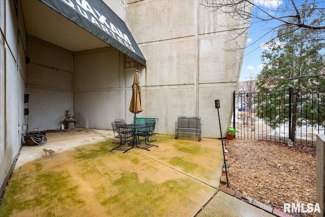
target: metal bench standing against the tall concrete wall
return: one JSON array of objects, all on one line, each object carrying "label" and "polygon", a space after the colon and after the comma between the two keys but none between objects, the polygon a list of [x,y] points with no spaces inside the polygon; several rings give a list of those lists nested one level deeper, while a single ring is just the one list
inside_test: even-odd
[{"label": "metal bench standing against the tall concrete wall", "polygon": [[175,139],[180,135],[195,136],[201,141],[201,117],[179,116],[175,127]]}]

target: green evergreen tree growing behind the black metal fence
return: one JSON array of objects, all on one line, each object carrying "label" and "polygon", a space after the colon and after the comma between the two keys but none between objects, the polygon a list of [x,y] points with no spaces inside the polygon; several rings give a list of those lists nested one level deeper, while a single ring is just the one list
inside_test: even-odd
[{"label": "green evergreen tree growing behind the black metal fence", "polygon": [[[264,68],[257,76],[256,85],[261,91],[281,91],[290,88],[291,96],[293,96],[291,97],[290,138],[293,141],[295,140],[296,123],[298,126],[303,124],[302,121],[297,121],[299,112],[307,114],[307,122],[305,122],[307,125],[324,124],[324,120],[317,123],[310,122],[313,121],[313,115],[317,115],[319,111],[314,111],[312,109],[314,106],[309,105],[310,103],[324,102],[324,97],[321,95],[311,101],[309,98],[301,97],[304,88],[325,86],[324,55],[321,53],[325,44],[318,40],[309,40],[314,37],[314,34],[316,31],[312,29],[280,26],[277,32],[278,41],[271,41],[266,45],[268,49],[262,53],[261,59]],[[305,40],[301,40],[302,38]],[[259,105],[263,107],[258,109],[258,117],[263,118],[272,128],[288,121],[289,102],[285,103],[285,106],[279,106],[280,104],[277,103],[277,101],[283,102],[285,97],[285,94],[276,95],[273,102],[270,96],[257,99],[261,103]],[[301,103],[300,109],[297,109],[298,101]]]}]

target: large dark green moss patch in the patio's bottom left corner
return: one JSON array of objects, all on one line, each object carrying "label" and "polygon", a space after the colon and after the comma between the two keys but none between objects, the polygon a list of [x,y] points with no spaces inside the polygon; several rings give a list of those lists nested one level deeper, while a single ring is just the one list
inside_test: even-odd
[{"label": "large dark green moss patch in the patio's bottom left corner", "polygon": [[73,184],[67,171],[49,171],[36,177],[12,179],[1,204],[0,216],[10,216],[14,210],[23,213],[35,207],[41,216],[55,216],[57,207],[69,209],[84,203],[79,199],[78,185]]}]

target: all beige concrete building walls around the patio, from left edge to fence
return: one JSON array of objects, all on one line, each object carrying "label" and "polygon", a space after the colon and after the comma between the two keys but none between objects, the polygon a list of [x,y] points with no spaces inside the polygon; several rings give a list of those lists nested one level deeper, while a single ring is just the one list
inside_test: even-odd
[{"label": "all beige concrete building walls around the patio, from left edge to fence", "polygon": [[233,32],[218,24],[231,19],[214,16],[199,1],[104,2],[131,30],[147,67],[108,45],[73,52],[28,35],[21,1],[17,13],[14,1],[0,1],[0,190],[26,133],[23,123],[28,131],[59,129],[71,108],[76,127],[111,130],[117,118],[131,123],[136,70],[144,105],[137,116],[157,117],[155,133],[174,135],[177,116],[186,115],[201,116],[203,137],[220,137],[216,99],[223,132],[228,128],[244,50],[225,50],[246,42],[225,43]]}]

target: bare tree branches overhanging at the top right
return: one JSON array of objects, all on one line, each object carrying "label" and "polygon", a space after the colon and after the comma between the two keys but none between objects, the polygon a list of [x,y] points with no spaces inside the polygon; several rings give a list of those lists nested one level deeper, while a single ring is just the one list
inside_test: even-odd
[{"label": "bare tree branches overhanging at the top right", "polygon": [[[208,8],[212,12],[218,14],[227,14],[232,19],[239,21],[232,25],[222,25],[230,29],[238,29],[239,26],[243,24],[251,25],[257,24],[258,22],[268,23],[273,20],[279,22],[276,27],[266,27],[269,28],[267,34],[259,38],[257,41],[266,38],[271,32],[276,32],[277,27],[281,26],[296,26],[298,29],[309,29],[315,31],[313,38],[308,40],[322,41],[325,39],[325,8],[321,7],[325,1],[320,0],[305,0],[304,2],[300,0],[290,0],[283,1],[284,5],[280,5],[274,8],[268,8],[267,5],[262,5],[259,1],[252,0],[201,0],[200,4],[205,8]],[[248,10],[248,8],[253,7],[253,13]],[[238,33],[238,35],[246,34],[246,31]],[[231,40],[236,40],[238,37],[232,37]],[[272,34],[271,39],[268,41],[273,41],[277,39],[278,36]],[[306,40],[306,39],[301,39]],[[245,46],[247,47],[247,46]],[[240,48],[242,49],[242,48]]]}]

